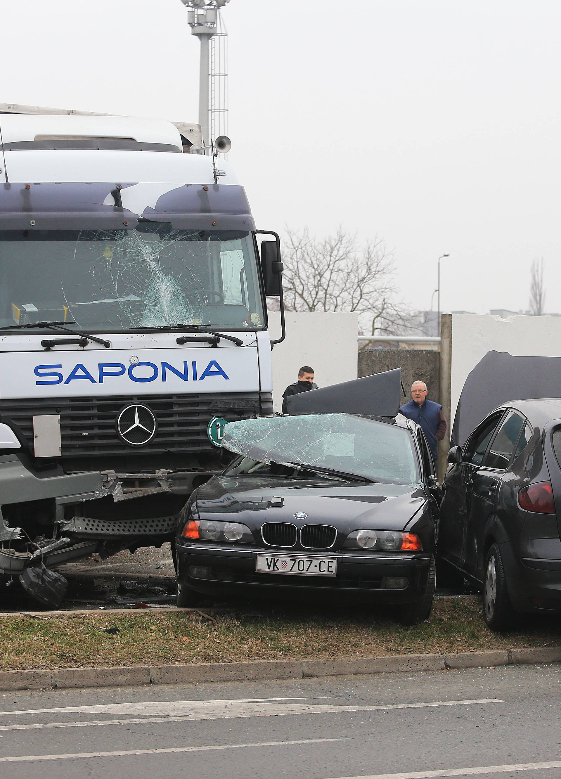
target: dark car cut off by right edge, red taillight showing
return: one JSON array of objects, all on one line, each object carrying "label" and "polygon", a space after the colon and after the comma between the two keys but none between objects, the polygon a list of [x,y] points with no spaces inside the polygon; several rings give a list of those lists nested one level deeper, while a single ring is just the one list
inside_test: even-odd
[{"label": "dark car cut off by right edge, red taillight showing", "polygon": [[519,612],[561,611],[561,400],[504,404],[448,462],[439,581],[478,583],[495,630]]}]

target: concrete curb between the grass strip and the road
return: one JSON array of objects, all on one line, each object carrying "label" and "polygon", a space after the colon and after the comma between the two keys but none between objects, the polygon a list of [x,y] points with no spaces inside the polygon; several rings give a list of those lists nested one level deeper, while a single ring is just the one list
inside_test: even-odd
[{"label": "concrete curb between the grass strip and the road", "polygon": [[340,657],[335,660],[254,660],[240,663],[0,671],[0,691],[257,682],[274,679],[309,679],[313,676],[446,671],[452,668],[489,668],[497,665],[558,662],[561,662],[561,647],[450,654],[402,654],[393,657]]}]

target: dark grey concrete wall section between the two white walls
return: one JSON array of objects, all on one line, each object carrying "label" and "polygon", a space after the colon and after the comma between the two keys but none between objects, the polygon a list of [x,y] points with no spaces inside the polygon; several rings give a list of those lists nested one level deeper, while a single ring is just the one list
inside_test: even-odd
[{"label": "dark grey concrete wall section between the two white walls", "polygon": [[[370,376],[373,373],[401,368],[401,380],[407,400],[411,400],[409,389],[414,381],[425,382],[429,388],[429,398],[440,403],[440,354],[438,351],[418,349],[362,349],[358,352],[358,375]],[[404,400],[405,403],[405,400]]]}]

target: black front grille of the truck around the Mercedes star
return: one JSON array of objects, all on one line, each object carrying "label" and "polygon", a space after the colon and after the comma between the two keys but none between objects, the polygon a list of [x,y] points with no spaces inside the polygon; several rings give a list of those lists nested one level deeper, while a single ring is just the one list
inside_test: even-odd
[{"label": "black front grille of the truck around the Mercedes star", "polygon": [[118,414],[129,404],[142,404],[157,418],[157,433],[136,453],[217,452],[206,428],[213,417],[228,421],[272,414],[270,393],[143,395],[139,397],[62,397],[0,401],[0,419],[17,428],[34,452],[33,418],[60,414],[62,458],[128,456],[131,447],[115,429]]}]

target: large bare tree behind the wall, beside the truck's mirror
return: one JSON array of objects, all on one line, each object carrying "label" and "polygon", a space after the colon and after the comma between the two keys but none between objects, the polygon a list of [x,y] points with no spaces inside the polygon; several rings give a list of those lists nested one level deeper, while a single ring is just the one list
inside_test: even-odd
[{"label": "large bare tree behind the wall, beside the truck's mirror", "polygon": [[287,230],[283,262],[288,311],[357,312],[372,335],[393,335],[407,321],[404,306],[394,301],[393,256],[378,238],[359,245],[342,227],[326,238],[307,227]]}]

